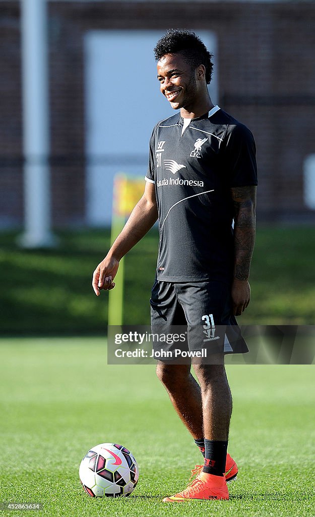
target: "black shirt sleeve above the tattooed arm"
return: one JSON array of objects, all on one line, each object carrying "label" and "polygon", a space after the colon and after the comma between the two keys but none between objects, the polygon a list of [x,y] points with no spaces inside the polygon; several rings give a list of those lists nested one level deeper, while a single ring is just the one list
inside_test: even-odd
[{"label": "black shirt sleeve above the tattooed arm", "polygon": [[228,128],[225,164],[230,187],[257,185],[255,140],[251,131],[243,124]]}]

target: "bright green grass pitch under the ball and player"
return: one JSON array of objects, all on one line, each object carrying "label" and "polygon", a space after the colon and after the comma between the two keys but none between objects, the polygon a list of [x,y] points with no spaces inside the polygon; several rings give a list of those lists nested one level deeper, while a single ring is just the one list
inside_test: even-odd
[{"label": "bright green grass pitch under the ball and player", "polygon": [[[0,341],[0,497],[41,503],[4,515],[314,516],[313,366],[229,366],[229,451],[239,480],[229,501],[163,504],[183,489],[201,455],[153,366],[107,366],[105,339]],[[122,443],[140,469],[129,498],[88,497],[83,455]]]}]

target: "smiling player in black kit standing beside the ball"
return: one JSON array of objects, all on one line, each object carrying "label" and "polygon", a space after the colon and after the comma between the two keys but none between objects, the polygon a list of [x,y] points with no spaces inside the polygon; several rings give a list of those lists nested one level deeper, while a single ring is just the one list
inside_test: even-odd
[{"label": "smiling player in black kit standing beside the ball", "polygon": [[237,330],[235,315],[250,300],[255,142],[249,129],[213,105],[207,88],[212,55],[198,36],[171,30],[154,50],[161,93],[180,112],[153,130],[144,195],[94,271],[93,288],[99,295],[115,286],[120,259],[159,219],[152,332],[186,324],[188,346],[200,349],[207,341],[211,353],[211,364],[193,365],[198,383],[191,364],[158,361],[158,377],[204,456],[192,471],[195,480],[164,501],[228,499],[227,481],[238,468],[227,454],[232,398],[224,354],[247,346],[240,335],[215,340],[214,333],[216,326],[225,326],[227,336]]}]

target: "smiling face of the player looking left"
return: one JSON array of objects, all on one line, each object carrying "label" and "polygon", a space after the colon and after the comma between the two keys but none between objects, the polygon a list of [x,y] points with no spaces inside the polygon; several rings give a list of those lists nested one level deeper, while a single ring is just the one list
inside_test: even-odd
[{"label": "smiling face of the player looking left", "polygon": [[160,90],[174,110],[194,111],[202,87],[199,68],[204,69],[202,65],[193,69],[180,53],[165,54],[158,61]]}]

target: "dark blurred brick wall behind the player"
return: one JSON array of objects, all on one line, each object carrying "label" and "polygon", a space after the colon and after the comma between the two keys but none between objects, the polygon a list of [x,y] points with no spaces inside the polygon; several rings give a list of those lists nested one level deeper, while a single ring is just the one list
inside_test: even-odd
[{"label": "dark blurred brick wall behind the player", "polygon": [[[315,4],[49,3],[52,209],[84,223],[83,35],[89,29],[194,27],[218,38],[220,106],[254,132],[261,220],[315,220],[303,161],[315,152]],[[22,222],[19,2],[0,0],[0,224]]]}]

